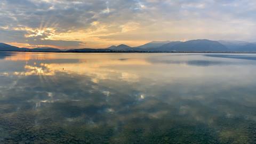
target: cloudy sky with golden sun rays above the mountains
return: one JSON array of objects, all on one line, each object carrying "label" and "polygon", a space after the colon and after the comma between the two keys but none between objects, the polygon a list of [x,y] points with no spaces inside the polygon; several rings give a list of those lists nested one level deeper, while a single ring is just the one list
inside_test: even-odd
[{"label": "cloudy sky with golden sun rays above the mountains", "polygon": [[256,42],[255,13],[255,0],[0,0],[0,42],[60,49]]}]

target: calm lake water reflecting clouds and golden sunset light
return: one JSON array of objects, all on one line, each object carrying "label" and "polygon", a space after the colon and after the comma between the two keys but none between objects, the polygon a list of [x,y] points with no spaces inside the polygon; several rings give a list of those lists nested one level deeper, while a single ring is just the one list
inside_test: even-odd
[{"label": "calm lake water reflecting clouds and golden sunset light", "polygon": [[255,143],[256,54],[0,53],[0,143]]}]

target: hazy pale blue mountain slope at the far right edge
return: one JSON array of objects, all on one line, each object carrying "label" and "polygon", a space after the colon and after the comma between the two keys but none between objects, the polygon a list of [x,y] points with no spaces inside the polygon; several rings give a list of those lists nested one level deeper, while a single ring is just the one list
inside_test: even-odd
[{"label": "hazy pale blue mountain slope at the far right edge", "polygon": [[256,44],[243,41],[219,41],[234,52],[256,52]]}]

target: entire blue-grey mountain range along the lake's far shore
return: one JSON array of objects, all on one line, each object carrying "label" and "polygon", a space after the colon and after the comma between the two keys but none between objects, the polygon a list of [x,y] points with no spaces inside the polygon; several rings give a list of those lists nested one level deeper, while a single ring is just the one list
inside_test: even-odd
[{"label": "entire blue-grey mountain range along the lake's far shore", "polygon": [[256,43],[243,41],[211,41],[209,39],[196,39],[181,41],[153,41],[141,46],[128,45],[110,46],[105,49],[70,49],[60,50],[53,47],[36,47],[34,49],[0,43],[0,51],[23,52],[256,52]]}]

